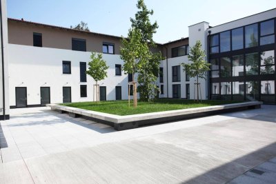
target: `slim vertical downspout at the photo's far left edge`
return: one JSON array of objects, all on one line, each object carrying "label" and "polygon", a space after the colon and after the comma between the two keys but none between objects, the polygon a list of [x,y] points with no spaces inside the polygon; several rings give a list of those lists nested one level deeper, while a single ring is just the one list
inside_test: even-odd
[{"label": "slim vertical downspout at the photo's far left edge", "polygon": [[4,48],[3,48],[3,16],[2,16],[2,4],[0,3],[0,14],[1,14],[1,57],[2,57],[2,83],[3,83],[3,120],[6,120],[6,104],[5,104],[5,70],[4,70]]}]

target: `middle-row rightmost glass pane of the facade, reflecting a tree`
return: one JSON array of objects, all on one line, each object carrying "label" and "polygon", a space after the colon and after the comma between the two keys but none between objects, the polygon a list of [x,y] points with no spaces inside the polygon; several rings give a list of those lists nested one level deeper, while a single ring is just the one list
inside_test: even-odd
[{"label": "middle-row rightmost glass pane of the facade, reflecting a tree", "polygon": [[261,74],[275,74],[274,50],[261,52]]}]

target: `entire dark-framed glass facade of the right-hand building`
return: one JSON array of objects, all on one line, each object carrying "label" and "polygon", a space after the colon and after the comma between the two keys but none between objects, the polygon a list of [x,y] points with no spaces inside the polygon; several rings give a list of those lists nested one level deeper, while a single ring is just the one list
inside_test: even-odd
[{"label": "entire dark-framed glass facade of the right-hand building", "polygon": [[275,21],[210,35],[210,99],[276,104]]}]

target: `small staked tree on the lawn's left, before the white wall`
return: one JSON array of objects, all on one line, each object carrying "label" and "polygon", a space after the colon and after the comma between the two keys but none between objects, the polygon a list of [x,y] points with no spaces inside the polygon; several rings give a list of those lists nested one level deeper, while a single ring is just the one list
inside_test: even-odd
[{"label": "small staked tree on the lawn's left, before the white wall", "polygon": [[[98,81],[105,79],[107,75],[108,65],[106,61],[103,60],[102,54],[97,54],[92,52],[90,56],[91,61],[88,63],[89,68],[86,74],[89,74],[96,81],[96,101],[99,101],[99,85]],[[94,91],[95,93],[95,91]]]}]

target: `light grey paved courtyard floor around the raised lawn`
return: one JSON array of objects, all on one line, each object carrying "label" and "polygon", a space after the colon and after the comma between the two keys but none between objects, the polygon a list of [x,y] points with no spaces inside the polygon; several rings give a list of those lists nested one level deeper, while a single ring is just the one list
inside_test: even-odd
[{"label": "light grey paved courtyard floor around the raised lawn", "polygon": [[121,132],[49,108],[10,114],[0,183],[276,181],[276,105]]}]

